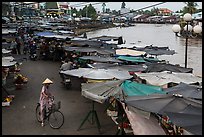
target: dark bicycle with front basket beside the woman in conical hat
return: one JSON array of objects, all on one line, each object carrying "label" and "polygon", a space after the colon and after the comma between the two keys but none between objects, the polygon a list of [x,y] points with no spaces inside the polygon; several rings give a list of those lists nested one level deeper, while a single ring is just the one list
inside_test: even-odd
[{"label": "dark bicycle with front basket beside the woman in conical hat", "polygon": [[[53,129],[59,129],[64,124],[64,115],[61,111],[59,111],[61,107],[61,102],[59,101],[57,104],[54,103],[54,98],[51,99],[52,105],[48,108],[45,108],[44,113],[44,120],[48,119],[49,125]],[[40,103],[37,103],[36,106],[36,118],[38,122],[41,122],[40,118]]]}]

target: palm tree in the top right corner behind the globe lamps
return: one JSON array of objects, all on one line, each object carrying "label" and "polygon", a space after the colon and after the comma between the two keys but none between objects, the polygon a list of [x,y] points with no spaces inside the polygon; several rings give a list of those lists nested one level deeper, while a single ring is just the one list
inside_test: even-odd
[{"label": "palm tree in the top right corner behind the globe lamps", "polygon": [[190,13],[191,15],[197,11],[198,4],[196,2],[184,2],[186,6],[183,8],[183,14]]}]

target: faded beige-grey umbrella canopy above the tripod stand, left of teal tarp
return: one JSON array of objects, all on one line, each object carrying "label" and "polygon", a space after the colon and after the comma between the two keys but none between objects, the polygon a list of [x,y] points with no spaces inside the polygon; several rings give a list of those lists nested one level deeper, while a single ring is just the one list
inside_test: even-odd
[{"label": "faded beige-grey umbrella canopy above the tripod stand, left of teal tarp", "polygon": [[122,95],[121,83],[123,80],[114,80],[99,83],[82,83],[82,95],[99,103],[104,103],[110,96]]}]

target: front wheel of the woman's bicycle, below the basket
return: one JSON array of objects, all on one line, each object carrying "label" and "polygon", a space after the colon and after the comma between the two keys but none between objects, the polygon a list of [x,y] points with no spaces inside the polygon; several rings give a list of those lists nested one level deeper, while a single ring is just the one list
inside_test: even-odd
[{"label": "front wheel of the woman's bicycle, below the basket", "polygon": [[64,124],[64,115],[59,110],[56,110],[50,114],[48,122],[51,128],[59,129]]}]

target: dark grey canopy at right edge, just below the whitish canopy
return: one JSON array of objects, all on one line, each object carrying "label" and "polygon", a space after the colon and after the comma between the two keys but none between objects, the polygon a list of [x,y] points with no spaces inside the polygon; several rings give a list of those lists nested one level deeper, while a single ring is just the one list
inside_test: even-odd
[{"label": "dark grey canopy at right edge, just below the whitish canopy", "polygon": [[179,85],[164,89],[167,94],[181,94],[184,97],[202,99],[202,88],[197,88],[192,85],[181,82]]}]

